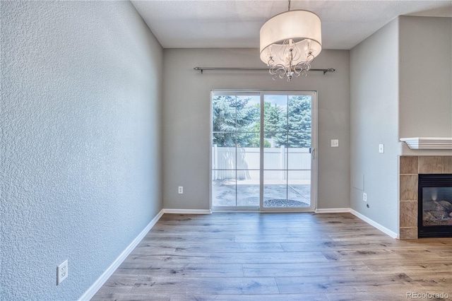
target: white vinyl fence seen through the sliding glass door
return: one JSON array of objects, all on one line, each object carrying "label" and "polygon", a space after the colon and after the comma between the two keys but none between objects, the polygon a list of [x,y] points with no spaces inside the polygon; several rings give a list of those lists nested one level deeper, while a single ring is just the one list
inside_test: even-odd
[{"label": "white vinyl fence seen through the sliding glass door", "polygon": [[[226,148],[215,144],[212,148],[212,178],[259,179],[259,148]],[[309,148],[264,148],[263,169],[265,179],[285,179],[290,170],[292,179],[311,178],[311,153]],[[270,171],[272,170],[272,171]]]}]

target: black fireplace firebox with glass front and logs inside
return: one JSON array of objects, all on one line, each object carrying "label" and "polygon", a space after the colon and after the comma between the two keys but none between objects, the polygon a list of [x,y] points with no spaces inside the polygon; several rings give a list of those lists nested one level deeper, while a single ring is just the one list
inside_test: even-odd
[{"label": "black fireplace firebox with glass front and logs inside", "polygon": [[452,175],[420,174],[418,237],[452,237]]}]

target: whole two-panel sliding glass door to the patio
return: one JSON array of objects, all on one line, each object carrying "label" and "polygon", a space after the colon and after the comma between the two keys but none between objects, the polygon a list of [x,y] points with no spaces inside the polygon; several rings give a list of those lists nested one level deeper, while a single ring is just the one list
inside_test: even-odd
[{"label": "whole two-panel sliding glass door to the patio", "polygon": [[316,94],[212,91],[213,211],[313,211]]}]

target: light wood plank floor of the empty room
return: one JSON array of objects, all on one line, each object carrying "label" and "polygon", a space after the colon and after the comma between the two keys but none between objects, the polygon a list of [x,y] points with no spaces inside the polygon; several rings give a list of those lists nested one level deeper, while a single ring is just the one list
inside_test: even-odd
[{"label": "light wood plank floor of the empty room", "polygon": [[349,213],[165,214],[92,300],[380,301],[424,293],[452,300],[452,238],[394,240]]}]

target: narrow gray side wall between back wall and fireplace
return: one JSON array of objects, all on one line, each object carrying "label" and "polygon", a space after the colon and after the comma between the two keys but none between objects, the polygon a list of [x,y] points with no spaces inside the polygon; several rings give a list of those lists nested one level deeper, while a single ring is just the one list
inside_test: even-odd
[{"label": "narrow gray side wall between back wall and fireplace", "polygon": [[350,205],[398,232],[398,20],[351,49],[350,74]]}]

